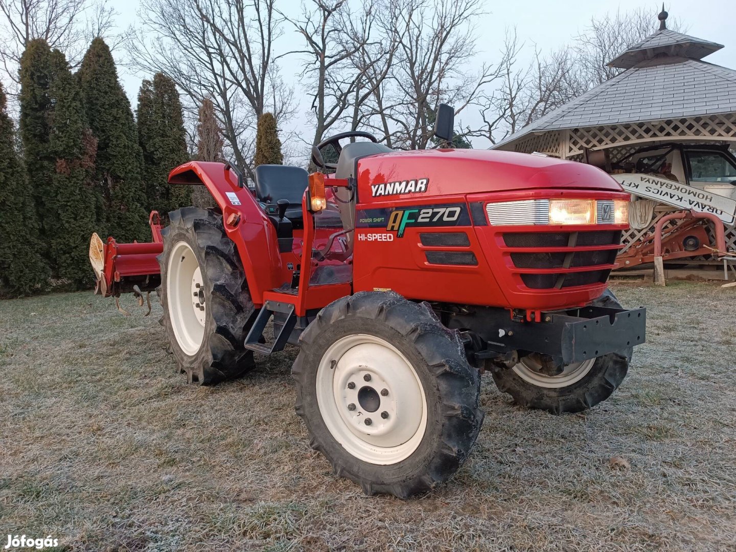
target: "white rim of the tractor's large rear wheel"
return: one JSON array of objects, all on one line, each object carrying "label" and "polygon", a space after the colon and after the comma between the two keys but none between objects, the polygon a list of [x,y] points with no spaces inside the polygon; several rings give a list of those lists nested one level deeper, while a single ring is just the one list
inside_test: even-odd
[{"label": "white rim of the tractor's large rear wheel", "polygon": [[197,255],[185,241],[174,245],[166,269],[166,296],[171,328],[186,355],[197,353],[205,336],[205,304],[202,271]]}]

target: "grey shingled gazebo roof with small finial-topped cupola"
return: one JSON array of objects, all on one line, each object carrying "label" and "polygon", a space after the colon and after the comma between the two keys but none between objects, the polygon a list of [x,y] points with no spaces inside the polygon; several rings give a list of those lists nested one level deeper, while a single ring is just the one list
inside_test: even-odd
[{"label": "grey shingled gazebo roof with small finial-topped cupola", "polygon": [[666,18],[608,64],[626,71],[492,147],[555,130],[735,113],[736,71],[701,60],[723,46],[667,29]]}]

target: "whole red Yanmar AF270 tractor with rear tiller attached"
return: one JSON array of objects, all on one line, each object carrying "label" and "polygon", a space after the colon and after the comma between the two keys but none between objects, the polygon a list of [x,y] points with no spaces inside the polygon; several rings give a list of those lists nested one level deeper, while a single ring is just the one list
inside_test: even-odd
[{"label": "whole red Yanmar AF270 tractor with rear tiller attached", "polygon": [[[440,113],[440,138],[451,119]],[[603,171],[392,151],[367,132],[329,138],[312,161],[322,172],[258,166],[253,190],[227,164],[178,166],[169,183],[205,185],[218,208],[169,213],[163,238],[152,217],[152,244],[93,238],[97,291],[156,289],[191,383],[300,347],[291,373],[311,446],[369,494],[407,497],[458,470],[483,422],[484,370],[554,414],[623,381],[645,309],[606,290],[629,194]]]}]

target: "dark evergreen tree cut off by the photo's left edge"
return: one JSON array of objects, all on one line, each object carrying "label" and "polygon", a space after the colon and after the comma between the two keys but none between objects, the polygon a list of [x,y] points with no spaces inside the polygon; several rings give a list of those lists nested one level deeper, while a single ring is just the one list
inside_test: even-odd
[{"label": "dark evergreen tree cut off by the photo's left edge", "polygon": [[0,83],[0,293],[12,297],[46,286],[49,269],[40,255],[35,202],[5,104]]}]

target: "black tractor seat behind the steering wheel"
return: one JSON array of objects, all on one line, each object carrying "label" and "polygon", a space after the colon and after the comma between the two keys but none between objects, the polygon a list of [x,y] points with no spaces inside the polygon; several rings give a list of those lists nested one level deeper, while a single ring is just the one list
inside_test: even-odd
[{"label": "black tractor seat behind the steering wheel", "polygon": [[255,168],[255,197],[269,216],[278,216],[277,201],[286,199],[286,218],[302,227],[302,197],[307,189],[307,171],[288,165],[259,165]]}]

